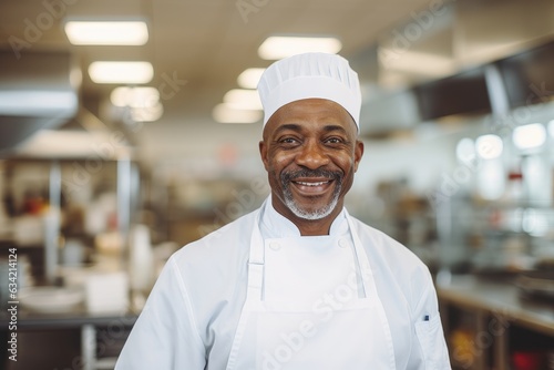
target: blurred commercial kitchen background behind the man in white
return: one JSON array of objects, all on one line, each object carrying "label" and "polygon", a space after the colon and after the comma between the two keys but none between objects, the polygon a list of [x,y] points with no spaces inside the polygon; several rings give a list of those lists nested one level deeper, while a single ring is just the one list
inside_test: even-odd
[{"label": "blurred commercial kitchen background behind the man in white", "polygon": [[1,0],[0,368],[113,369],[269,194],[259,71],[319,48],[361,80],[348,208],[431,269],[453,368],[554,369],[551,0]]}]

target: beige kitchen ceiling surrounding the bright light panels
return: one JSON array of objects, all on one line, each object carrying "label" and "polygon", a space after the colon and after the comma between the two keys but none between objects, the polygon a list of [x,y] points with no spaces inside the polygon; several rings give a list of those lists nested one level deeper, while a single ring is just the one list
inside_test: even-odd
[{"label": "beige kitchen ceiling surrounding the bright light panels", "polygon": [[[37,24],[44,3],[63,3],[55,24],[44,30],[33,49],[70,49],[83,70],[95,60],[147,60],[154,64],[152,85],[163,83],[163,74],[177,73],[188,82],[179,103],[212,106],[248,66],[266,66],[257,48],[274,33],[334,34],[342,40],[342,54],[351,54],[375,42],[377,34],[409,17],[429,0],[22,0],[0,3],[0,40],[10,35],[24,39],[25,20]],[[250,3],[246,13],[237,4]],[[68,3],[68,4],[65,4]],[[255,3],[266,3],[255,6]],[[61,8],[59,8],[61,9]],[[150,41],[143,47],[71,47],[62,30],[66,18],[145,19]],[[85,76],[84,94],[106,93]],[[187,99],[185,99],[187,95]],[[167,104],[172,105],[172,104]]]}]

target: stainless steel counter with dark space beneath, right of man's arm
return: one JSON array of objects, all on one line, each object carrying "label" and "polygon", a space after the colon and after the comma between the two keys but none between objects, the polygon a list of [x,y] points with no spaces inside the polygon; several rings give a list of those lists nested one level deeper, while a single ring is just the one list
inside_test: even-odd
[{"label": "stainless steel counter with dark space beneath, right of man's arm", "polygon": [[550,369],[552,301],[522,296],[513,277],[453,276],[437,291],[453,369],[516,369],[522,356],[540,358],[533,369]]}]

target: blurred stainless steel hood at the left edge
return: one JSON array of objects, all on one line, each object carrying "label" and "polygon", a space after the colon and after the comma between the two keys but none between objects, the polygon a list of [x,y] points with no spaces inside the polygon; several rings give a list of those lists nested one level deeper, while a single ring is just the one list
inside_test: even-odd
[{"label": "blurred stainless steel hood at the left edge", "polygon": [[69,52],[0,50],[0,157],[79,110],[81,72]]}]

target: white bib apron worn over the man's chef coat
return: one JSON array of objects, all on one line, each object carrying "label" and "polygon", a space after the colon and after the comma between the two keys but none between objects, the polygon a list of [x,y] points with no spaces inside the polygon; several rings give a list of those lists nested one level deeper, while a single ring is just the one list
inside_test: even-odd
[{"label": "white bib apron worn over the man's chef coat", "polygon": [[[227,370],[310,370],[310,369],[396,369],[389,323],[377,294],[371,268],[350,216],[346,214],[353,250],[350,266],[353,274],[334,282],[335,289],[320,299],[265,300],[275,297],[276,285],[287,281],[290,266],[273,259],[265,265],[265,250],[285,245],[287,248],[317,248],[319,240],[310,237],[287,237],[264,240],[259,217],[255,217],[248,260],[248,287]],[[329,237],[327,243],[346,247],[343,237]],[[314,244],[314,245],[310,245]],[[350,247],[350,243],[348,243]],[[270,250],[269,250],[270,251]],[[268,259],[269,260],[269,259]],[[310,260],[301,261],[314,276],[332,278],[334,270],[317,271]],[[266,276],[267,270],[274,276]],[[277,273],[279,271],[279,273]],[[278,280],[280,279],[280,280]],[[361,281],[358,286],[357,282]],[[277,295],[278,296],[278,295]]]}]

